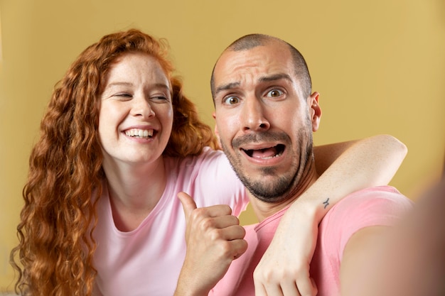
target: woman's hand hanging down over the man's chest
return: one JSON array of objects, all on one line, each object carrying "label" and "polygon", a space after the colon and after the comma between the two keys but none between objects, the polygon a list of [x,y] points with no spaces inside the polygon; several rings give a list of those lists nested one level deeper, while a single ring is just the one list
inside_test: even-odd
[{"label": "woman's hand hanging down over the man's chest", "polygon": [[316,295],[317,288],[310,278],[309,267],[315,251],[318,224],[311,216],[301,212],[282,217],[272,243],[254,271],[256,296]]}]

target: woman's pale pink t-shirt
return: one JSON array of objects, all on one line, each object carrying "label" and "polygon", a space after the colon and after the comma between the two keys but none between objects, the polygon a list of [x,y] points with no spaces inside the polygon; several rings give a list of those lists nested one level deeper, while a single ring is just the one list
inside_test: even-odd
[{"label": "woman's pale pink t-shirt", "polygon": [[235,215],[245,209],[245,187],[223,152],[206,149],[197,157],[164,161],[169,174],[166,189],[134,231],[114,226],[104,182],[94,232],[96,295],[173,295],[186,254],[186,221],[178,192],[191,194],[198,207],[228,204]]}]

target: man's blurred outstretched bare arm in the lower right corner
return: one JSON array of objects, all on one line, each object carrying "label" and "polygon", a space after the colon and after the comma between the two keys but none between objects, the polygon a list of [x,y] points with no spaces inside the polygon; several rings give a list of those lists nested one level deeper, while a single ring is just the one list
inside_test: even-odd
[{"label": "man's blurred outstretched bare arm in the lower right corner", "polygon": [[[350,295],[445,295],[445,178],[416,199],[412,212],[372,241]],[[355,258],[357,259],[357,258]]]}]

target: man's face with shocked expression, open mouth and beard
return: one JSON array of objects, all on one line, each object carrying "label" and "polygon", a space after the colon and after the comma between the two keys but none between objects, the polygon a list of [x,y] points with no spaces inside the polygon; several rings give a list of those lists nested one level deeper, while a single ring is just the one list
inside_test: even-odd
[{"label": "man's face with shocked expression, open mouth and beard", "polygon": [[286,200],[313,163],[318,94],[303,97],[289,48],[277,42],[226,51],[214,82],[215,132],[232,167],[255,197]]}]

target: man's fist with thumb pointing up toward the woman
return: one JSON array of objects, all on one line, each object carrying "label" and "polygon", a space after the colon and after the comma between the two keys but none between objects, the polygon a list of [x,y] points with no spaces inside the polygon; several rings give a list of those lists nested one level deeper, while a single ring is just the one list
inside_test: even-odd
[{"label": "man's fist with thumb pointing up toward the woman", "polygon": [[197,208],[193,198],[178,194],[186,215],[186,259],[175,295],[208,295],[233,260],[247,250],[245,229],[225,204]]}]

